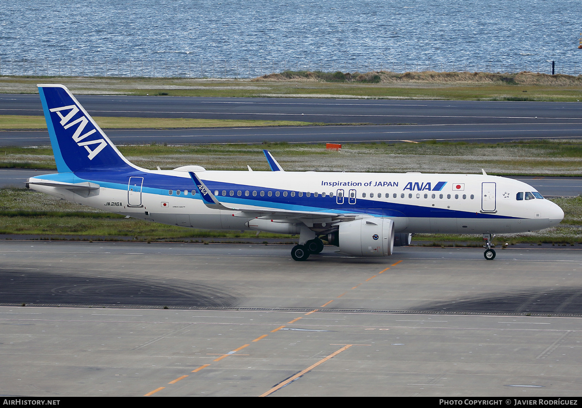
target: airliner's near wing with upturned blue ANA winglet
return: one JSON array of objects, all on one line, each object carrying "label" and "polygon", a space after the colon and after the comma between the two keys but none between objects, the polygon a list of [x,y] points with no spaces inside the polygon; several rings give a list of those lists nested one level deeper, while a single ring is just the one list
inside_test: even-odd
[{"label": "airliner's near wing with upturned blue ANA winglet", "polygon": [[210,192],[210,189],[206,187],[204,182],[200,180],[200,177],[196,176],[196,173],[192,171],[188,172],[190,177],[194,181],[194,185],[200,195],[202,196],[202,201],[208,208],[215,210],[226,210],[226,211],[238,211],[239,213],[233,214],[235,217],[266,217],[269,216],[273,219],[322,219],[339,217],[344,215],[344,213],[328,213],[328,212],[310,212],[310,211],[290,211],[282,209],[258,209],[250,207],[227,207],[223,203],[219,202],[218,199]]}]

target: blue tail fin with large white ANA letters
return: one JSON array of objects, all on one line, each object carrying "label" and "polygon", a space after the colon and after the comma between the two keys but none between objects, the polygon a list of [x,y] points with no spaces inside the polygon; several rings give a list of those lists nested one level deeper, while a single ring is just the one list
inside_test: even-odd
[{"label": "blue tail fin with large white ANA letters", "polygon": [[136,168],[65,86],[39,84],[38,93],[59,173]]}]

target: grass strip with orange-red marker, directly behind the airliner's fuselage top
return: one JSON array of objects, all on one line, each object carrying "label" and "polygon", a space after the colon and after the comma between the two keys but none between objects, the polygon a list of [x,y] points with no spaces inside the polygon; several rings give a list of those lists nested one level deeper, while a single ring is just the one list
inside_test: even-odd
[{"label": "grass strip with orange-red marker, directly behind the airliner's fuselage top", "polygon": [[[403,173],[481,173],[496,176],[580,176],[581,141],[519,141],[498,144],[466,142],[343,144],[340,151],[324,144],[258,145],[120,145],[131,162],[146,169],[175,169],[198,164],[208,170],[269,170],[262,149],[269,149],[288,171]],[[0,167],[56,169],[51,148],[0,148]]]}]

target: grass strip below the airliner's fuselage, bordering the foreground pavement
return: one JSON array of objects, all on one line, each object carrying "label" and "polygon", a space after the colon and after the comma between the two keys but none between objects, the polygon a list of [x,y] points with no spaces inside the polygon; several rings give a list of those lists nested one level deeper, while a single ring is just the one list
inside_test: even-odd
[{"label": "grass strip below the airliner's fuselage, bordering the foreground pavement", "polygon": [[[553,198],[565,213],[556,227],[522,234],[500,234],[498,245],[555,244],[582,245],[582,197]],[[47,194],[27,189],[0,189],[0,234],[76,235],[133,237],[140,241],[194,238],[289,238],[289,235],[255,231],[208,231],[148,221],[126,219],[86,206],[81,207]],[[417,234],[414,241],[435,246],[481,246],[481,235]]]}]

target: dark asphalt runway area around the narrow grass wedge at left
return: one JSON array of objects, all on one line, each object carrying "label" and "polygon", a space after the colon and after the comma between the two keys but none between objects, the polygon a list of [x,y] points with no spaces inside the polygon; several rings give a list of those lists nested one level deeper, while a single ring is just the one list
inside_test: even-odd
[{"label": "dark asphalt runway area around the narrow grass wedge at left", "polygon": [[[108,130],[115,144],[501,142],[579,139],[582,103],[79,95],[94,116],[300,120],[354,126]],[[41,115],[38,95],[0,95],[0,114]],[[366,125],[361,125],[365,123]],[[3,131],[0,145],[48,145],[46,131]]]}]

